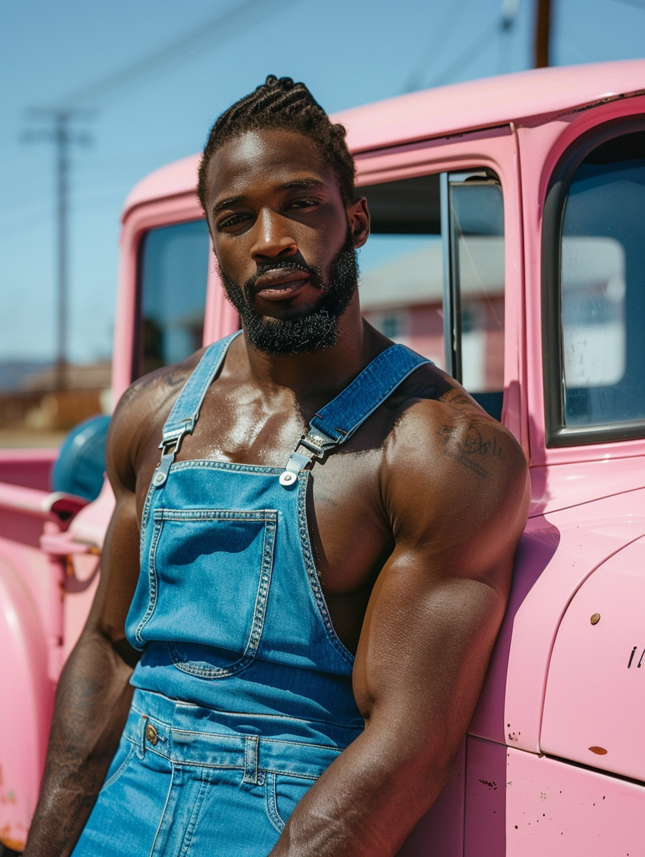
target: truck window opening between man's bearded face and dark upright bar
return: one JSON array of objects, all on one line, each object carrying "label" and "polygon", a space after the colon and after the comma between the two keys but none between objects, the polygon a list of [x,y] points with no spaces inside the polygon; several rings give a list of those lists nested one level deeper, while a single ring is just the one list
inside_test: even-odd
[{"label": "truck window opening between man's bearded face and dark upright bar", "polygon": [[363,315],[445,368],[439,176],[358,189],[372,229],[359,251]]}]

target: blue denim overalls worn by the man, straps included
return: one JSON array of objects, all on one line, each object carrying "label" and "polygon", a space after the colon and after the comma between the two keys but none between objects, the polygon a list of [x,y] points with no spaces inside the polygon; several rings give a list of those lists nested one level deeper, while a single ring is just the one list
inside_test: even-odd
[{"label": "blue denim overalls worn by the man, straps included", "polygon": [[[237,335],[237,334],[236,334]],[[308,466],[421,363],[393,345],[309,423],[284,469],[174,462],[233,337],[164,425],[126,633],[132,708],[74,857],[265,857],[363,728],[308,536]]]}]

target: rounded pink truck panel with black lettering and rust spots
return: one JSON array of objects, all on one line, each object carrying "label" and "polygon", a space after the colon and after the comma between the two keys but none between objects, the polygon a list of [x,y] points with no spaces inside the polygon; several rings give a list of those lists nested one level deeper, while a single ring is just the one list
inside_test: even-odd
[{"label": "rounded pink truck panel with black lettering and rust spots", "polygon": [[645,782],[644,619],[638,539],[585,580],[564,614],[546,681],[542,752]]}]

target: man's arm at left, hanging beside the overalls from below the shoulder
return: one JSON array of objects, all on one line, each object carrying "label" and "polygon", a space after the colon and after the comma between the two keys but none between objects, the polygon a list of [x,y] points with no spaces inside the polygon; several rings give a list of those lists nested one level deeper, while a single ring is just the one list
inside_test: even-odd
[{"label": "man's arm at left, hanging beside the overalls from below the shoulder", "polygon": [[87,624],[56,692],[39,803],[25,857],[67,857],[97,799],[128,716],[139,653],[125,619],[139,573],[139,529],[130,464],[133,414],[126,397],[110,425],[106,467],[116,507]]}]

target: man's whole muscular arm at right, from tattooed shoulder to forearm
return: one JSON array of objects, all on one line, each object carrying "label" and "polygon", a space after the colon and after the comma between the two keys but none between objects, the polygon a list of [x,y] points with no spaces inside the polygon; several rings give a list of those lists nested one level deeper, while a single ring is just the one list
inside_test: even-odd
[{"label": "man's whole muscular arm at right, from tattooed shoulder to forearm", "polygon": [[462,399],[415,405],[395,429],[383,495],[396,548],[354,669],[366,728],[296,806],[272,857],[390,857],[451,776],[529,504],[517,443]]}]

